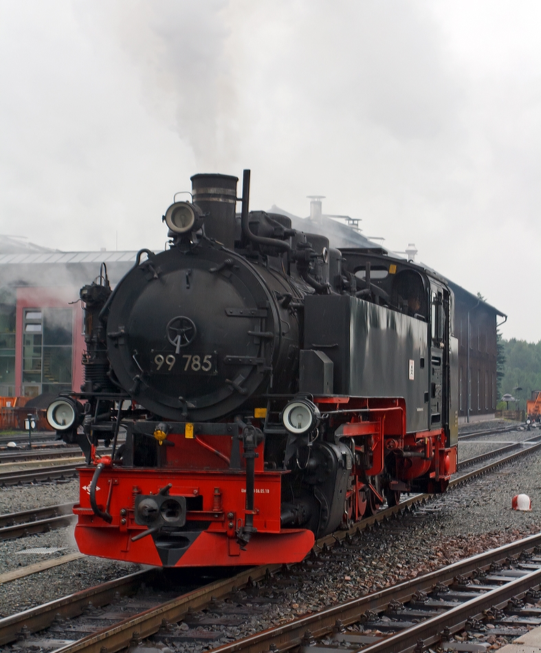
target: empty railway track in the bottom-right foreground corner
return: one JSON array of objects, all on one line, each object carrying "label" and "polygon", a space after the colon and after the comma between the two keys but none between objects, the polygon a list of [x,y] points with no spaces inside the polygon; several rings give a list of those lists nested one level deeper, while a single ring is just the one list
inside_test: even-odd
[{"label": "empty railway track in the bottom-right foreground corner", "polygon": [[[483,621],[518,636],[527,632],[527,626],[541,624],[541,609],[529,605],[541,596],[541,557],[536,555],[540,544],[541,534],[533,535],[212,650],[338,653],[354,648],[364,653],[421,653],[465,630],[476,634],[485,630],[486,637],[494,636],[494,628],[486,632]],[[216,607],[214,614],[219,615],[220,606]],[[192,626],[196,623],[192,619]],[[174,642],[175,634],[162,626],[153,639]]]}]

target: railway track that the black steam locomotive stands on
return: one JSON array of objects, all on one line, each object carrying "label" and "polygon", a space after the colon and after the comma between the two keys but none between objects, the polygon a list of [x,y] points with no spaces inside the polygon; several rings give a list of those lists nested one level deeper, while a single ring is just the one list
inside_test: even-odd
[{"label": "railway track that the black steam locomotive stands on", "polygon": [[[495,467],[503,465],[507,461],[514,460],[518,456],[531,452],[540,447],[541,443],[529,443],[527,446],[524,446],[524,443],[521,443],[521,445],[522,448],[519,451],[511,452],[510,454],[507,454],[505,458],[500,458],[498,461],[492,461],[472,472],[466,472],[461,475],[457,474],[457,476],[452,479],[450,485],[452,487],[461,485],[469,478],[472,478],[472,476],[485,474],[489,472],[490,469],[494,469]],[[65,597],[64,599],[54,601],[54,605],[51,604],[51,606],[49,606],[50,609],[45,609],[44,606],[40,606],[38,608],[33,608],[32,610],[27,610],[20,615],[7,617],[7,621],[6,619],[0,620],[0,644],[9,643],[10,641],[14,641],[14,639],[21,640],[21,638],[24,639],[25,637],[30,637],[30,633],[43,628],[48,628],[53,624],[53,628],[56,629],[55,632],[58,632],[58,637],[60,637],[60,639],[56,641],[58,646],[55,644],[58,652],[71,653],[75,650],[100,652],[102,646],[107,645],[107,651],[112,653],[115,650],[120,650],[126,645],[129,645],[130,641],[133,643],[134,641],[138,641],[140,638],[149,637],[155,633],[157,633],[158,638],[162,638],[163,640],[166,635],[169,636],[171,632],[176,632],[176,627],[168,624],[176,623],[183,619],[184,630],[181,633],[177,632],[175,635],[177,641],[190,641],[191,637],[193,641],[201,643],[201,639],[197,640],[197,637],[203,637],[203,640],[206,641],[206,643],[210,643],[213,638],[214,640],[217,639],[218,636],[216,633],[210,635],[197,634],[197,632],[200,632],[201,627],[209,626],[209,623],[195,623],[197,619],[206,619],[206,617],[204,617],[204,615],[196,617],[190,612],[191,621],[188,619],[188,623],[186,621],[188,610],[201,610],[201,608],[208,604],[212,607],[217,604],[217,601],[225,600],[227,597],[233,597],[234,601],[238,601],[240,600],[239,588],[243,587],[245,588],[245,596],[243,599],[244,604],[250,603],[252,606],[256,605],[256,608],[257,606],[262,606],[266,599],[264,596],[257,597],[256,594],[260,592],[261,584],[263,582],[267,584],[270,583],[271,586],[274,582],[276,582],[277,586],[284,586],[287,583],[294,583],[297,585],[301,584],[301,582],[304,582],[305,576],[308,575],[310,571],[313,571],[314,569],[317,571],[318,568],[324,568],[326,564],[326,556],[330,561],[331,559],[340,557],[340,555],[353,555],[351,551],[355,549],[355,546],[357,546],[355,544],[355,538],[363,529],[371,527],[378,522],[388,520],[397,513],[408,512],[410,509],[415,509],[415,505],[426,502],[428,498],[428,495],[410,496],[402,501],[397,507],[384,509],[371,518],[363,520],[358,524],[354,524],[349,531],[338,531],[333,535],[327,535],[326,538],[322,538],[318,541],[316,557],[312,560],[307,559],[304,563],[300,564],[300,566],[298,566],[299,571],[297,572],[280,569],[279,566],[252,568],[243,571],[243,573],[236,575],[231,579],[221,580],[217,583],[210,583],[209,586],[197,588],[197,590],[193,590],[192,593],[183,594],[181,597],[175,597],[175,599],[171,599],[170,601],[165,601],[163,603],[157,601],[158,605],[155,606],[155,608],[144,606],[146,609],[141,609],[136,615],[131,615],[130,617],[126,617],[126,619],[122,619],[120,623],[118,619],[122,617],[122,610],[124,610],[124,608],[122,608],[122,610],[120,610],[120,608],[117,610],[114,606],[111,606],[110,608],[105,608],[101,611],[98,610],[100,606],[111,604],[111,585],[106,584],[103,588],[103,595],[101,594],[102,590],[100,589],[100,586],[98,588],[92,588],[91,590],[85,590],[86,593],[78,593],[77,595],[71,595],[71,597]],[[65,506],[65,509],[69,509],[69,504]],[[541,538],[541,535],[538,537]],[[534,542],[536,546],[541,546],[541,540],[530,540],[530,542]],[[333,546],[337,546],[338,549],[331,553],[329,549]],[[153,573],[156,574],[159,573],[159,571],[153,570]],[[170,573],[170,571],[168,573]],[[156,579],[157,577],[152,575],[148,577],[144,575],[136,575],[136,578],[142,579],[141,582],[148,584],[150,579]],[[271,581],[271,579],[273,580]],[[112,590],[113,595],[115,591],[118,591],[120,597],[133,595],[137,592],[137,584],[134,583],[133,579],[127,579],[125,582],[129,589]],[[120,579],[118,581],[118,586],[121,588],[124,587],[123,583],[124,580]],[[212,597],[214,597],[214,599],[212,599]],[[88,607],[89,601],[91,601],[92,604],[90,608]],[[118,601],[118,596],[115,601]],[[77,615],[83,615],[81,618],[85,621],[85,610],[87,612],[87,617],[93,623],[94,630],[96,630],[96,624],[102,624],[102,628],[98,630],[97,633],[92,632],[92,624],[89,625],[89,623],[87,623],[88,619],[85,623],[79,626],[74,625],[67,628],[63,625],[63,619],[73,619]],[[229,615],[229,617],[225,615],[219,623],[223,626],[223,623],[229,623],[231,619],[236,619],[238,621],[240,618],[242,621],[242,619],[245,618],[243,617],[243,610],[250,611],[249,608],[243,608],[242,605],[237,606],[234,610],[234,618],[232,615]],[[57,615],[60,616],[58,617]],[[162,623],[163,619],[166,621]],[[209,619],[212,622],[212,619],[215,621],[216,617],[209,617]],[[335,619],[340,619],[340,617],[335,617]],[[104,623],[111,623],[111,625],[103,626]],[[166,623],[165,627],[163,625],[164,623]],[[86,631],[85,628],[87,629]],[[305,624],[305,630],[311,629]],[[137,635],[135,636],[134,633],[137,633]],[[304,637],[304,632],[302,633],[302,636]],[[50,639],[50,637],[51,635],[49,633],[46,639]],[[207,638],[206,640],[205,637]],[[36,639],[36,636],[34,636],[31,639],[28,639],[28,643],[32,646],[41,645],[41,643],[44,643],[46,639]],[[305,644],[303,645],[312,645],[310,638],[305,638],[305,640]],[[20,645],[22,643],[22,641],[19,641]],[[316,650],[312,651],[313,653],[316,653]],[[310,652],[310,649],[307,649],[307,652]]]}]

